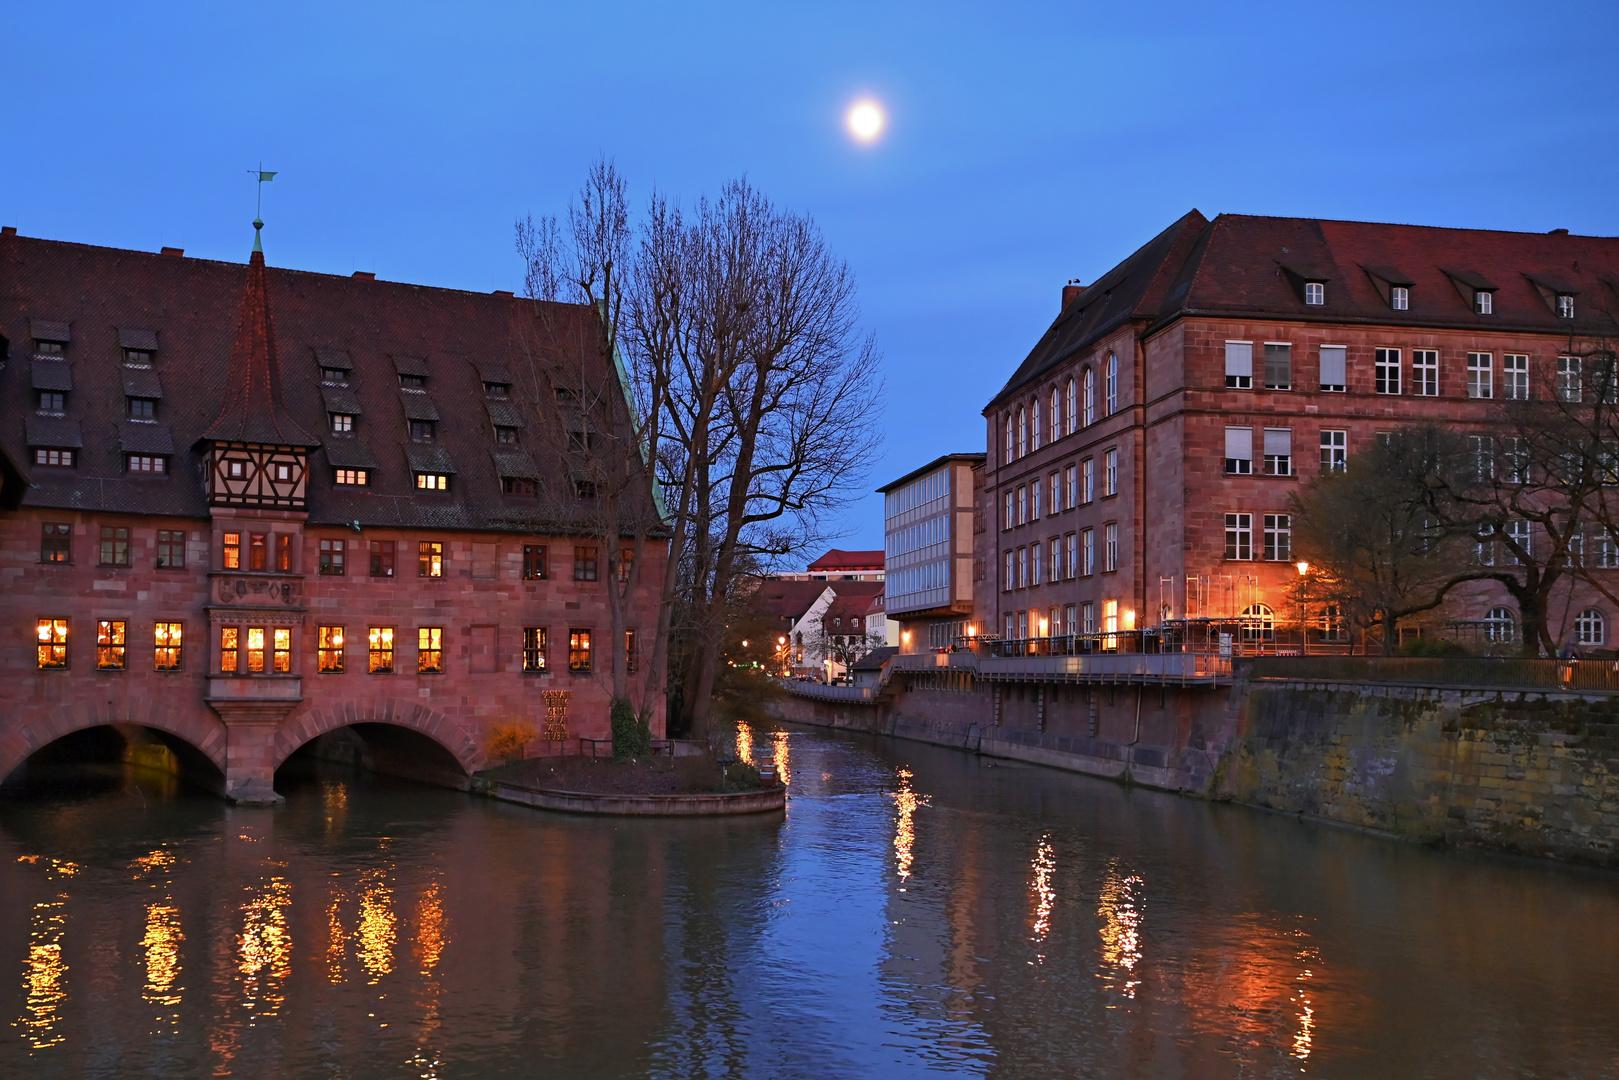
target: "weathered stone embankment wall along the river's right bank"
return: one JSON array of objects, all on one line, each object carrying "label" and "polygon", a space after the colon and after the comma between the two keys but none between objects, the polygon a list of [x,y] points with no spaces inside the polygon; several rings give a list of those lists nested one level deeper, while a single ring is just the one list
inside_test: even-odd
[{"label": "weathered stone embankment wall along the river's right bank", "polygon": [[[897,683],[899,680],[895,680]],[[1619,866],[1619,699],[1239,678],[1047,688],[1001,719],[988,683],[874,704],[790,696],[787,721],[863,730],[1428,842]]]}]

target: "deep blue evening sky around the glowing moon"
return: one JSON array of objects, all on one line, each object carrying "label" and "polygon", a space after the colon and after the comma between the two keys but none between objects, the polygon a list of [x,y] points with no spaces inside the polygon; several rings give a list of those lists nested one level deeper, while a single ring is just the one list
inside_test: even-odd
[{"label": "deep blue evening sky around the glowing moon", "polygon": [[[83,5],[0,0],[0,223],[520,287],[606,152],[811,214],[887,363],[884,483],[981,450],[1056,314],[1192,207],[1619,233],[1619,5]],[[855,146],[871,94],[887,136]],[[845,547],[881,547],[881,500]]]}]

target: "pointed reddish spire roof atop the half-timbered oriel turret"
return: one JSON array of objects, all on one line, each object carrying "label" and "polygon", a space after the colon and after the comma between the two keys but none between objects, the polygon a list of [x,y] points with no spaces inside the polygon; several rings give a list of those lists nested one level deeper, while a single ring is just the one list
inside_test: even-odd
[{"label": "pointed reddish spire roof atop the half-timbered oriel turret", "polygon": [[321,440],[300,427],[282,402],[282,364],[275,355],[275,324],[270,321],[264,246],[259,243],[262,228],[264,222],[253,222],[253,256],[248,261],[248,283],[241,291],[236,343],[230,350],[225,405],[202,437],[214,442],[317,447]]}]

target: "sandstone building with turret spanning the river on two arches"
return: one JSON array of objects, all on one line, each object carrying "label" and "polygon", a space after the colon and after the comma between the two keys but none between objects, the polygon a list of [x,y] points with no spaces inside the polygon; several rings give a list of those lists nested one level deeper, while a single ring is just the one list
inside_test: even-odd
[{"label": "sandstone building with turret spanning the river on two arches", "polygon": [[466,772],[552,690],[606,738],[662,557],[607,640],[591,492],[534,437],[591,319],[3,230],[0,777],[102,724],[189,743],[246,801],[351,724]]}]

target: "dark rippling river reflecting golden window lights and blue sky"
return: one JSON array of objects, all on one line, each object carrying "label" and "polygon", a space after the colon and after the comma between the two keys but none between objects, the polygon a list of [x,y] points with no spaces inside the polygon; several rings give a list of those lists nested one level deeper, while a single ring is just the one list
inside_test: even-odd
[{"label": "dark rippling river reflecting golden window lights and blue sky", "polygon": [[874,737],[785,816],[0,803],[0,1077],[1616,1077],[1619,879]]}]

